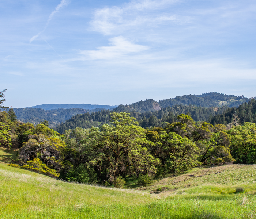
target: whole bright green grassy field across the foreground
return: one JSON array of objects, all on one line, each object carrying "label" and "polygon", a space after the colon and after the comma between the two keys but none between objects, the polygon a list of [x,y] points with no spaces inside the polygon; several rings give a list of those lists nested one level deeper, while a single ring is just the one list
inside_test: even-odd
[{"label": "whole bright green grassy field across the foreground", "polygon": [[[255,169],[195,168],[157,181],[147,190],[132,190],[65,183],[0,164],[0,218],[256,218]],[[167,189],[150,194],[163,187]],[[239,187],[244,192],[236,192]]]}]

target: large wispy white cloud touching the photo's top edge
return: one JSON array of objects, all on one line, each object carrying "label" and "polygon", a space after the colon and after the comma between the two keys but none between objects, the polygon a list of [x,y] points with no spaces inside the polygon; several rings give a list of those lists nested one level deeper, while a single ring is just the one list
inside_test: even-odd
[{"label": "large wispy white cloud touching the photo's top edge", "polygon": [[[176,15],[161,15],[159,13],[148,13],[178,0],[138,0],[125,4],[123,7],[105,7],[95,11],[90,24],[94,31],[110,35],[115,31],[139,26],[141,24],[155,25],[159,22],[180,22],[187,18],[180,18]],[[143,15],[147,14],[147,15]]]}]

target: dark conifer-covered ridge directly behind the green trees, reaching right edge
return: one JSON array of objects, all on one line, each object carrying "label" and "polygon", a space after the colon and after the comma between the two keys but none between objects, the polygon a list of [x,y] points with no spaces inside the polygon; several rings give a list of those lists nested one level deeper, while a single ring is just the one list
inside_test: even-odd
[{"label": "dark conifer-covered ridge directly behind the green trees, reaching right edge", "polygon": [[[152,101],[153,102],[153,101]],[[120,111],[119,111],[120,110]],[[248,103],[241,104],[237,107],[196,107],[193,105],[175,105],[173,107],[166,107],[158,111],[138,112],[132,108],[119,106],[113,111],[115,112],[129,112],[131,116],[135,117],[143,128],[160,126],[165,127],[167,123],[176,121],[176,116],[179,114],[190,115],[193,120],[207,121],[211,124],[229,124],[233,121],[234,116],[237,117],[237,122],[243,124],[244,122],[256,123],[256,103],[255,99],[249,100]],[[56,127],[56,130],[63,133],[65,130],[74,129],[76,127],[90,128],[92,126],[99,127],[102,124],[109,124],[109,110],[101,110],[92,114],[76,115],[67,120],[65,123]]]}]

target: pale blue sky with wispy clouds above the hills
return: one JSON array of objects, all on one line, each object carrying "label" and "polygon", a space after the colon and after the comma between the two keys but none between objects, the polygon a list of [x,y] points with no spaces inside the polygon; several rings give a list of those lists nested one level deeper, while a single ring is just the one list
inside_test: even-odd
[{"label": "pale blue sky with wispy clouds above the hills", "polygon": [[6,107],[256,96],[255,0],[1,0]]}]

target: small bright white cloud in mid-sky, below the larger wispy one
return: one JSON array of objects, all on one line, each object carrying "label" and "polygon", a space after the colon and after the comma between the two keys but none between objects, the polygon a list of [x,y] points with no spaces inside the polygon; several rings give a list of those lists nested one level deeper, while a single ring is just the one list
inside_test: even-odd
[{"label": "small bright white cloud in mid-sky, below the larger wispy one", "polygon": [[84,50],[79,54],[86,55],[87,59],[116,59],[123,58],[124,55],[130,53],[138,53],[148,50],[149,47],[138,45],[127,41],[124,37],[113,37],[109,39],[110,46],[97,47],[98,50]]}]

